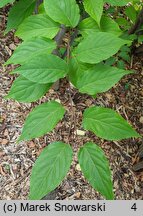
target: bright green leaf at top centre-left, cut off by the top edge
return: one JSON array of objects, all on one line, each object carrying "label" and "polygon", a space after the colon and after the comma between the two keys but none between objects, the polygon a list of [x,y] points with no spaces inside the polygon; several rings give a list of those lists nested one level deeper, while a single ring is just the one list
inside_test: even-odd
[{"label": "bright green leaf at top centre-left, cut off by the top edge", "polygon": [[75,0],[45,0],[44,6],[54,21],[73,28],[77,26],[80,14]]}]

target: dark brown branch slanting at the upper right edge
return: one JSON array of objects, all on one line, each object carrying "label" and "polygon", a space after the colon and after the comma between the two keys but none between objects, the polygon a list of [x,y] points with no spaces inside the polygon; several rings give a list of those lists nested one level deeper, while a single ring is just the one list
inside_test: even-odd
[{"label": "dark brown branch slanting at the upper right edge", "polygon": [[134,34],[139,28],[140,26],[143,24],[143,7],[136,19],[135,24],[129,29],[128,34]]}]

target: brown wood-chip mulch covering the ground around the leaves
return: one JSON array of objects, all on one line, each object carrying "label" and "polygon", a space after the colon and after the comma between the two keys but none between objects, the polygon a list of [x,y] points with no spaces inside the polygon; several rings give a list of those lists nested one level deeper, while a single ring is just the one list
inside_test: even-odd
[{"label": "brown wood-chip mulch covering the ground around the leaves", "polygon": [[[123,78],[110,91],[93,99],[80,94],[64,79],[58,91],[51,89],[35,103],[18,103],[5,100],[15,79],[9,72],[12,65],[3,63],[11,56],[19,40],[13,33],[4,36],[7,7],[0,10],[0,199],[27,199],[32,166],[42,149],[53,141],[70,143],[74,149],[71,169],[56,191],[56,199],[103,199],[84,179],[77,161],[77,151],[87,141],[100,145],[110,161],[113,173],[115,199],[142,199],[143,172],[134,172],[133,165],[139,161],[138,149],[141,139],[109,142],[84,131],[82,113],[92,105],[110,107],[119,112],[143,135],[143,58],[133,58],[130,66],[134,74]],[[24,120],[35,107],[49,100],[58,100],[66,108],[64,119],[52,133],[40,139],[16,144]]]}]

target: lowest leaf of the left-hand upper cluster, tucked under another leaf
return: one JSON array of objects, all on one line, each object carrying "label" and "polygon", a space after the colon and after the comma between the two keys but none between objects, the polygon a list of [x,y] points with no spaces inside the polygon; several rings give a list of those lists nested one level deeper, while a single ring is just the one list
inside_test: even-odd
[{"label": "lowest leaf of the left-hand upper cluster, tucked under another leaf", "polygon": [[28,79],[20,76],[18,77],[8,95],[5,97],[12,98],[19,102],[30,103],[40,99],[52,86],[52,84],[38,84],[29,81]]}]

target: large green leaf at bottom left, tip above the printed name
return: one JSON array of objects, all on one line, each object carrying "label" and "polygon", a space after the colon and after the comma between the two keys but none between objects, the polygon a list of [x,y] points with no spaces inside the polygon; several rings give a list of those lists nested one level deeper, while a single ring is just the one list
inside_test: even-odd
[{"label": "large green leaf at bottom left, tip above the printed name", "polygon": [[62,142],[54,142],[44,148],[32,169],[31,200],[40,200],[58,187],[70,168],[72,155],[70,145]]}]

